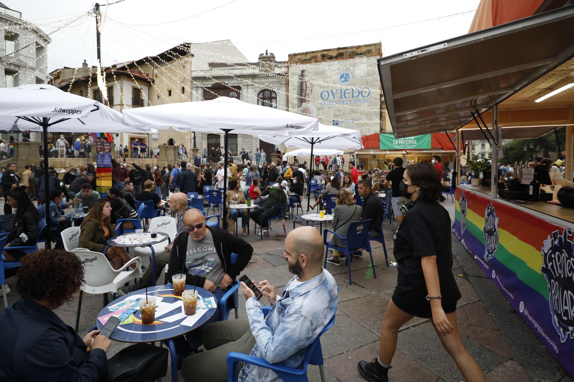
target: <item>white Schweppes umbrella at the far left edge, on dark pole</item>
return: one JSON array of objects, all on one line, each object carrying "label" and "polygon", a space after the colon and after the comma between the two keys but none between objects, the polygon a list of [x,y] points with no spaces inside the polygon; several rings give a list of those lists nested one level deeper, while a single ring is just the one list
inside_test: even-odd
[{"label": "white Schweppes umbrella at the far left edge, on dark pole", "polygon": [[[14,125],[15,124],[15,125]],[[126,126],[122,114],[89,98],[61,91],[52,85],[0,88],[0,130],[34,130],[44,133],[44,176],[48,179],[48,131],[156,132]],[[48,197],[48,182],[45,196]],[[46,208],[46,222],[49,221]]]}]

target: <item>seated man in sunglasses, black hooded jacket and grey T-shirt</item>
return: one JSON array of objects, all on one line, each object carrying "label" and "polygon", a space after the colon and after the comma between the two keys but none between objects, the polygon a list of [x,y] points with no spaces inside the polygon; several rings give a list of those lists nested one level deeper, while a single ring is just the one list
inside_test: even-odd
[{"label": "seated man in sunglasses, black hooded jacket and grey T-shirt", "polygon": [[[218,299],[215,313],[204,325],[187,335],[192,350],[202,345],[201,331],[208,323],[219,320],[219,301],[241,274],[253,254],[253,247],[241,237],[220,227],[207,227],[206,218],[197,208],[184,213],[183,225],[188,235],[179,235],[173,242],[169,258],[169,282],[176,274],[187,275],[186,284],[207,289]],[[231,252],[237,259],[231,263]]]}]

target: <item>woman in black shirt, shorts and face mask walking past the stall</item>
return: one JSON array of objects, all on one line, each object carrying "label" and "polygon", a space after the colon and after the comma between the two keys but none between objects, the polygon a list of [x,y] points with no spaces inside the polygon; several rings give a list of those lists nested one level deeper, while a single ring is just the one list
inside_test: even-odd
[{"label": "woman in black shirt, shorts and face mask walking past the stall", "polygon": [[438,202],[442,189],[440,173],[429,163],[406,167],[400,190],[412,206],[394,236],[397,286],[383,317],[379,357],[358,364],[361,375],[371,382],[389,380],[387,372],[397,349],[398,330],[413,317],[430,318],[443,347],[467,381],[486,381],[464,348],[456,324],[460,291],[451,271],[451,219]]}]

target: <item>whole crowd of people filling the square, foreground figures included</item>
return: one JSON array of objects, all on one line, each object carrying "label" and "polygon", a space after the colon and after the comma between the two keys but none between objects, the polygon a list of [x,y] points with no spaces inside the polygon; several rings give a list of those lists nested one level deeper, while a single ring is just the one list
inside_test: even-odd
[{"label": "whole crowd of people filling the square, foreground figures included", "polygon": [[[212,150],[219,155],[215,148]],[[242,151],[245,154],[245,150]],[[62,380],[72,380],[73,376],[83,375],[85,380],[95,381],[106,372],[110,341],[98,331],[79,338],[53,313],[69,301],[82,284],[84,271],[77,256],[61,248],[32,254],[10,250],[10,247],[36,242],[38,221],[45,217],[46,208],[49,221],[45,238],[48,241],[69,224],[64,216],[65,209],[80,205],[87,208],[87,216],[80,225],[79,246],[96,252],[103,252],[108,239],[116,235],[117,220],[138,219],[135,201],[152,200],[156,208],[168,208],[176,217],[177,234],[164,252],[156,254],[156,274],[168,265],[169,282],[174,275],[183,272],[187,275],[187,284],[203,287],[220,299],[253,255],[253,247],[243,239],[247,236],[249,219],[266,233],[269,229],[267,218],[281,214],[281,224],[285,224],[289,205],[301,205],[308,192],[311,193],[309,197],[313,197],[313,209],[325,208],[324,197],[334,194],[332,229],[336,235],[331,235],[329,240],[341,248],[344,241],[339,237],[347,236],[353,221],[368,220],[369,236],[380,235],[385,211],[377,193],[386,189],[392,195],[391,205],[386,208],[392,208],[399,223],[394,246],[394,256],[399,263],[397,287],[383,318],[381,338],[385,340],[381,341],[378,357],[372,362],[360,361],[359,372],[367,380],[386,381],[398,328],[416,316],[432,319],[444,348],[467,380],[483,381],[482,372],[464,349],[456,326],[455,310],[460,292],[451,272],[450,219],[448,212],[437,202],[444,187],[443,171],[448,167],[440,165],[440,160],[432,165],[416,163],[404,167],[402,158],[395,158],[394,169],[389,173],[374,169],[365,171],[359,179],[355,163],[347,163],[350,170],[344,171],[338,157],[320,159],[319,164],[336,163],[336,167],[326,167],[333,171],[327,171],[318,166],[309,169],[307,163],[288,163],[285,155],[278,155],[275,162],[261,161],[262,153],[263,150],[259,151],[259,162],[255,157],[252,163],[247,153],[240,161],[234,158],[227,163],[217,161],[214,169],[207,161],[199,161],[199,166],[185,161],[160,166],[112,157],[113,185],[105,197],[95,191],[95,163],[79,169],[70,166],[61,180],[53,167],[48,167],[49,177],[44,179],[43,162],[38,167],[26,165],[22,173],[25,179],[21,179],[16,164],[10,163],[1,178],[5,216],[0,224],[8,236],[3,252],[6,262],[22,264],[17,279],[22,298],[0,313],[0,351],[14,354],[7,349],[13,349],[16,341],[22,341],[15,333],[25,330],[29,325],[26,322],[30,320],[35,323],[30,336],[37,334],[36,348],[39,350],[14,354],[18,362],[9,360],[7,367],[0,367],[0,379],[10,380],[18,375],[31,379],[49,376],[48,380],[54,380],[52,375],[66,375]],[[208,156],[211,158],[211,154]],[[316,161],[314,164],[317,165]],[[310,180],[316,186],[316,196],[309,187]],[[47,195],[45,182],[49,185]],[[205,214],[188,206],[187,193],[197,192],[201,196],[205,193],[204,186],[226,188],[228,205],[243,203],[247,198],[261,205],[249,213],[249,219],[247,211],[228,209],[228,226],[241,220],[243,237],[230,232],[230,227],[224,229],[224,224],[208,227]],[[169,201],[164,205],[162,200],[168,196]],[[409,205],[406,215],[401,208],[405,205]],[[130,223],[122,224],[125,229],[135,228]],[[232,252],[237,254],[234,262],[231,262]],[[178,354],[185,354],[185,360],[181,362],[184,379],[227,380],[226,356],[231,349],[269,362],[298,367],[307,346],[333,317],[338,305],[335,279],[321,266],[323,254],[323,238],[316,228],[300,227],[291,231],[285,239],[284,258],[295,276],[281,295],[275,294],[268,280],[257,283],[272,305],[270,316],[263,318],[253,291],[241,283],[247,300],[247,319],[218,322],[219,314],[215,313],[191,334],[176,338]],[[361,251],[343,254],[332,250],[327,262],[338,266],[350,256],[360,255]],[[114,245],[107,248],[105,256],[115,269],[125,266],[131,259],[124,248]],[[209,270],[203,267],[204,258],[214,259],[214,266]],[[135,267],[134,264],[131,266]],[[38,272],[38,267],[45,271]],[[142,269],[146,286],[153,285],[150,268]],[[7,277],[12,275],[9,273]],[[51,286],[56,277],[59,288],[38,287]],[[118,293],[130,293],[135,288],[133,284]],[[306,304],[307,299],[313,303]],[[11,330],[4,330],[4,325]],[[42,333],[46,330],[55,337],[45,337]],[[227,340],[222,342],[219,338],[223,333]],[[53,346],[52,341],[60,344],[57,350],[60,357],[48,367],[46,357],[53,352],[42,352],[41,349]],[[71,346],[74,342],[83,345]],[[199,350],[201,346],[205,351]],[[77,362],[71,362],[76,359]],[[276,378],[273,371],[250,364],[245,364],[239,373],[242,381]]]}]

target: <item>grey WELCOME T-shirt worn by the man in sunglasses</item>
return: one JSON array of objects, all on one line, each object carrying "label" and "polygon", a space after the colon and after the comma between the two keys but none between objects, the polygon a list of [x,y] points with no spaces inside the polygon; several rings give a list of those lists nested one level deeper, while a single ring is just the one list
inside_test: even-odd
[{"label": "grey WELCOME T-shirt worn by the man in sunglasses", "polygon": [[201,276],[219,285],[225,270],[215,249],[211,231],[207,231],[203,240],[195,241],[191,236],[187,238],[185,267],[188,275]]}]

